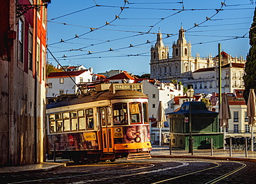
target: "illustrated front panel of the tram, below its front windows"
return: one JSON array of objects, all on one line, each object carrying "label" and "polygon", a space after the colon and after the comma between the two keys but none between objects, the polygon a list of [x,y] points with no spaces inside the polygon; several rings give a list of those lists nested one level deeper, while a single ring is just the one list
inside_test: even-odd
[{"label": "illustrated front panel of the tram, below its front windows", "polygon": [[115,127],[113,138],[115,143],[146,143],[149,141],[149,126]]}]

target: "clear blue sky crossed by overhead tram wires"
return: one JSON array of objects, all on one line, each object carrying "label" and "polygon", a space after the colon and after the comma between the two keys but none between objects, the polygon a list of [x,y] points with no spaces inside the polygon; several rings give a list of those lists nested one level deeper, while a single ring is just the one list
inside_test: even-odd
[{"label": "clear blue sky crossed by overhead tram wires", "polygon": [[84,65],[95,74],[149,74],[156,34],[161,31],[172,57],[181,26],[192,57],[214,57],[221,43],[231,57],[246,59],[254,9],[253,0],[53,0],[48,5],[48,62]]}]

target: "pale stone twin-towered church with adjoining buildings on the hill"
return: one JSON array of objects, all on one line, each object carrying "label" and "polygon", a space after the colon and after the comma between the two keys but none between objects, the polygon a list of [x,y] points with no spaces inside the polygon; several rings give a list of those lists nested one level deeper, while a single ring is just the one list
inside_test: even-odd
[{"label": "pale stone twin-towered church with adjoining buildings on the hill", "polygon": [[[192,57],[192,45],[185,39],[185,30],[181,26],[179,38],[172,44],[172,57],[169,48],[164,45],[161,31],[157,34],[155,45],[151,47],[150,75],[163,83],[172,80],[180,81],[184,87],[192,85],[196,93],[209,94],[218,92],[219,55],[212,57]],[[244,90],[243,57],[231,57],[221,52],[221,83],[222,92],[233,93],[234,90]]]}]

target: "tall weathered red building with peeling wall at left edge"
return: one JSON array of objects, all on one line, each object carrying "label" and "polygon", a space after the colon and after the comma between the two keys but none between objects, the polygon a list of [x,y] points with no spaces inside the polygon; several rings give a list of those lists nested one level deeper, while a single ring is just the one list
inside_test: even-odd
[{"label": "tall weathered red building with peeling wall at left edge", "polygon": [[49,2],[1,1],[0,165],[44,161],[46,7]]}]

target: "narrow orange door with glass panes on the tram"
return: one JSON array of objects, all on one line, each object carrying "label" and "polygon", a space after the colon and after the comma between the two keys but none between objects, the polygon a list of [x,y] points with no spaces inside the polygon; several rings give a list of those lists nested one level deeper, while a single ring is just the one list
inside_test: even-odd
[{"label": "narrow orange door with glass panes on the tram", "polygon": [[103,152],[113,152],[113,137],[111,130],[110,108],[100,108],[100,121],[102,128]]}]

